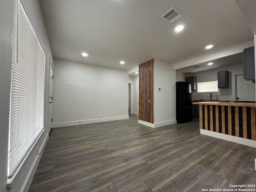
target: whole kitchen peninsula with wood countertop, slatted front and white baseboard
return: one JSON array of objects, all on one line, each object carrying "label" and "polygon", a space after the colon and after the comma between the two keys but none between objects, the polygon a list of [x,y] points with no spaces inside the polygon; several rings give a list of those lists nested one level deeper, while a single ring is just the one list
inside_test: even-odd
[{"label": "whole kitchen peninsula with wood countertop, slatted front and white baseboard", "polygon": [[256,147],[255,103],[193,102],[199,105],[200,133]]}]

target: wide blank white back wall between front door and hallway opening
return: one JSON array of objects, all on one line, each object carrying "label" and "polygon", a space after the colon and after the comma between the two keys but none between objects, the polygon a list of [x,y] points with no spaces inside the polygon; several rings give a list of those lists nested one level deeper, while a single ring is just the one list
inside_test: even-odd
[{"label": "wide blank white back wall between front door and hallway opening", "polygon": [[54,73],[53,127],[129,118],[126,71],[54,58]]}]

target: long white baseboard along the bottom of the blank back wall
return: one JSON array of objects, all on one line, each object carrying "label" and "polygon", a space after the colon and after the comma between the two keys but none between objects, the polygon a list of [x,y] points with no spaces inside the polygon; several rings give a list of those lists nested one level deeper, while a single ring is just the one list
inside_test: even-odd
[{"label": "long white baseboard along the bottom of the blank back wall", "polygon": [[90,119],[90,120],[81,120],[81,121],[72,121],[72,122],[53,123],[52,128],[75,126],[75,125],[90,124],[90,123],[100,123],[100,122],[108,122],[108,121],[116,121],[116,120],[124,120],[124,119],[128,119],[128,118],[129,118],[129,116],[120,116],[120,117],[110,117],[110,118],[99,118],[99,119]]}]

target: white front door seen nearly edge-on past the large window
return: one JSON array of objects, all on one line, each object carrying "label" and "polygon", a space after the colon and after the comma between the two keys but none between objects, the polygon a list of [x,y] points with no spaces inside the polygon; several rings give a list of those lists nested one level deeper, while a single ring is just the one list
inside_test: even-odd
[{"label": "white front door seen nearly edge-on past the large window", "polygon": [[50,75],[49,75],[49,118],[48,118],[48,122],[49,122],[49,132],[52,129],[52,102],[53,102],[53,66],[52,66],[52,62],[50,62]]}]

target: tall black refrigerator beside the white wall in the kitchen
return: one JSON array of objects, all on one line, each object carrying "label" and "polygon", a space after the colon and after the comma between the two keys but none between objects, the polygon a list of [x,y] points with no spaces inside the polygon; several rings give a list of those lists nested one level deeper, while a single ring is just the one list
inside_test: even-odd
[{"label": "tall black refrigerator beside the white wall in the kitchen", "polygon": [[192,101],[188,82],[176,82],[176,120],[177,123],[192,121]]}]

